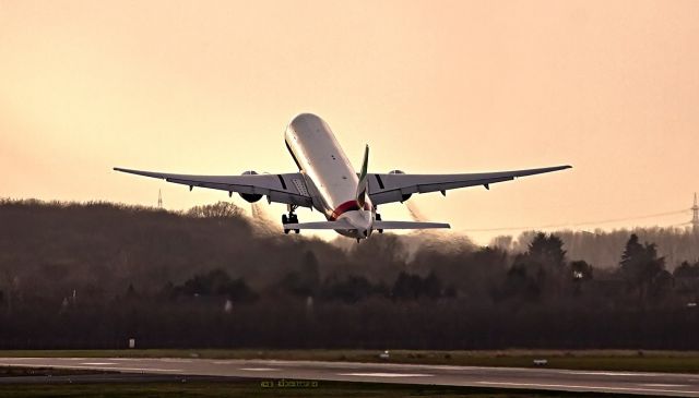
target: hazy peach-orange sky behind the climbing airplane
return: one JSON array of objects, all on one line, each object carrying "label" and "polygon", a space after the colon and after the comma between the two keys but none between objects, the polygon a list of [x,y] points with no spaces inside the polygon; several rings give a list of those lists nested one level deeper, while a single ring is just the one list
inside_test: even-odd
[{"label": "hazy peach-orange sky behind the climbing airplane", "polygon": [[0,0],[0,197],[226,200],[111,167],[295,171],[283,131],[301,111],[355,166],[368,143],[375,172],[574,166],[411,200],[455,230],[687,208],[699,1]]}]

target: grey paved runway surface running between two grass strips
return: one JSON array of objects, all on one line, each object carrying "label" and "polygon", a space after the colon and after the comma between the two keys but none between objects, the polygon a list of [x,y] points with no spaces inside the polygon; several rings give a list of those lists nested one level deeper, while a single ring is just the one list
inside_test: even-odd
[{"label": "grey paved runway surface running between two grass strips", "polygon": [[0,358],[0,366],[699,397],[699,375],[274,360]]}]

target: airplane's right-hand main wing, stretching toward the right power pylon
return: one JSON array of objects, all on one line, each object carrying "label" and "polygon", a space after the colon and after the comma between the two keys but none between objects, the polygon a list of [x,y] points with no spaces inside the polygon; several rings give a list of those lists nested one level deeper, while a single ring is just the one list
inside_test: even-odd
[{"label": "airplane's right-hand main wing, stretching toward the right power pylon", "polygon": [[413,193],[437,191],[445,193],[447,190],[474,185],[484,185],[486,189],[489,189],[489,184],[491,183],[569,168],[571,168],[571,166],[466,174],[368,174],[369,196],[375,205],[380,205],[382,203],[403,202],[406,200],[405,196]]}]

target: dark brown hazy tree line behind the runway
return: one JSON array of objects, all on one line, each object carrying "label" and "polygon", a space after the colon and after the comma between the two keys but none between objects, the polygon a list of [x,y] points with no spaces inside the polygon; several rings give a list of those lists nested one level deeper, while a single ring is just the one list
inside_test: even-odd
[{"label": "dark brown hazy tree line behind the runway", "polygon": [[699,262],[642,233],[600,266],[558,233],[277,232],[225,202],[1,201],[0,348],[699,348]]}]

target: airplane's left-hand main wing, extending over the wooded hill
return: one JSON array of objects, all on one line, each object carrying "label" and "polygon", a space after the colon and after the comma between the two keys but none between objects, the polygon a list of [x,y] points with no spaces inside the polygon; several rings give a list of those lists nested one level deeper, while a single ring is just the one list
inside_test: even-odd
[{"label": "airplane's left-hand main wing, extending over the wooded hill", "polygon": [[170,174],[165,172],[141,171],[114,168],[116,171],[145,176],[174,182],[176,184],[209,188],[212,190],[264,195],[270,202],[285,203],[304,207],[311,207],[312,200],[308,194],[304,176],[299,172],[285,174],[245,174],[245,176],[189,176]]}]

